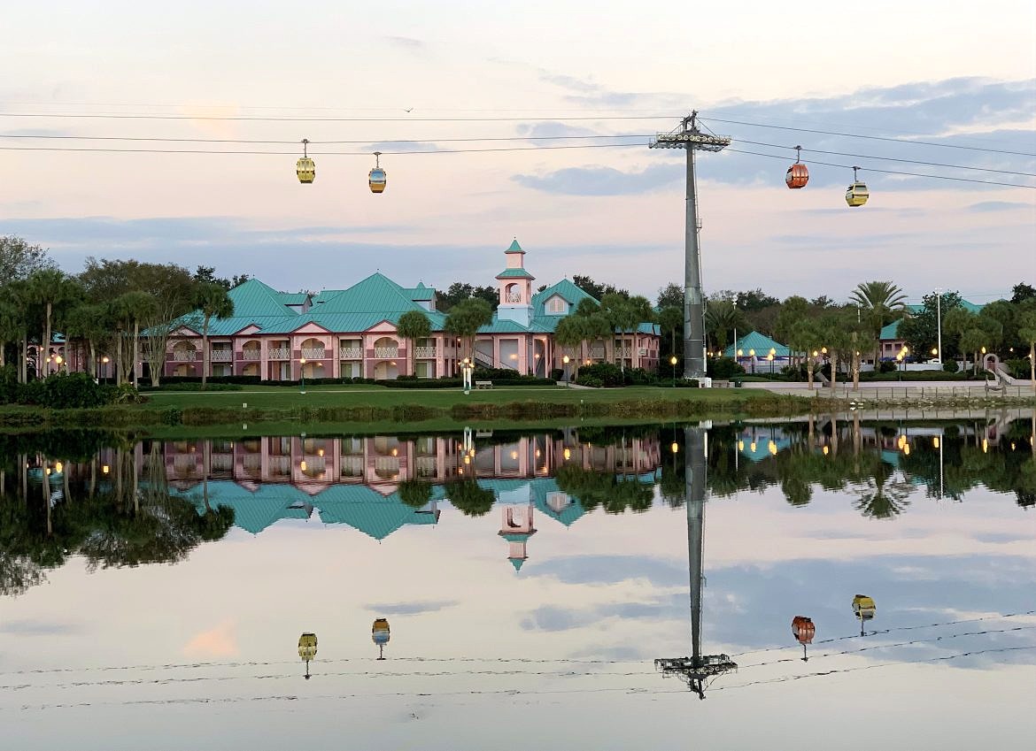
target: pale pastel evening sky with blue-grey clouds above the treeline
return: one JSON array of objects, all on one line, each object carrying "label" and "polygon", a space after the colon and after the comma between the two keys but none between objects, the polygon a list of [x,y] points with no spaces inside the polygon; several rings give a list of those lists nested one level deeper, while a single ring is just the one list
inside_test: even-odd
[{"label": "pale pastel evening sky with blue-grey clouds above the treeline", "polygon": [[[517,238],[537,286],[587,274],[654,299],[683,283],[685,170],[646,143],[696,109],[733,138],[698,159],[707,292],[845,300],[892,279],[912,302],[937,288],[988,302],[1036,283],[1036,6],[983,7],[21,4],[0,22],[16,73],[0,77],[0,235],[71,273],[136,258],[286,292],[375,271],[492,284]],[[269,119],[204,119],[241,117]],[[846,132],[868,138],[832,134]],[[597,134],[630,138],[562,138]],[[304,186],[303,138],[351,143],[314,144]],[[556,148],[602,144],[624,145]],[[788,190],[796,145],[810,182]],[[859,209],[853,164],[871,191]]]}]

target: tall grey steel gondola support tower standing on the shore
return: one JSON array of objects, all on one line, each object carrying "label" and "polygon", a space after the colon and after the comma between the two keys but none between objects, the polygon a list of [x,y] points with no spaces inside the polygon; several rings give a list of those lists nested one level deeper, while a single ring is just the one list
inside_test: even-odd
[{"label": "tall grey steel gondola support tower standing on the shore", "polygon": [[[701,257],[698,248],[697,185],[694,176],[695,151],[722,151],[730,145],[725,136],[702,133],[697,111],[685,117],[680,127],[658,133],[648,146],[652,149],[684,149],[687,152],[687,226],[684,249],[684,378],[706,377],[706,306],[701,291]],[[735,342],[737,344],[737,342]]]}]

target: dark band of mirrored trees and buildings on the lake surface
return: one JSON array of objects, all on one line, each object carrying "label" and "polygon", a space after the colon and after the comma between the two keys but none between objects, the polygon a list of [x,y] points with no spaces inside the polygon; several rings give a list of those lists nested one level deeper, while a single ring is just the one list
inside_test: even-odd
[{"label": "dark band of mirrored trees and buildings on the lake surface", "polygon": [[[1016,416],[1015,416],[1016,417]],[[858,415],[704,428],[567,428],[518,434],[257,437],[144,441],[90,431],[0,437],[0,593],[83,555],[91,570],[176,562],[232,527],[346,524],[377,540],[435,525],[441,506],[470,517],[502,507],[516,571],[535,514],[644,511],[779,487],[792,506],[843,490],[865,517],[892,519],[919,493],[961,501],[978,485],[1036,504],[1033,418],[863,422]],[[699,439],[709,452],[699,454]],[[702,461],[708,473],[694,470]],[[699,488],[698,485],[701,485]],[[689,524],[697,523],[690,517]],[[697,534],[691,529],[692,534]],[[692,554],[692,563],[695,557]]]}]

